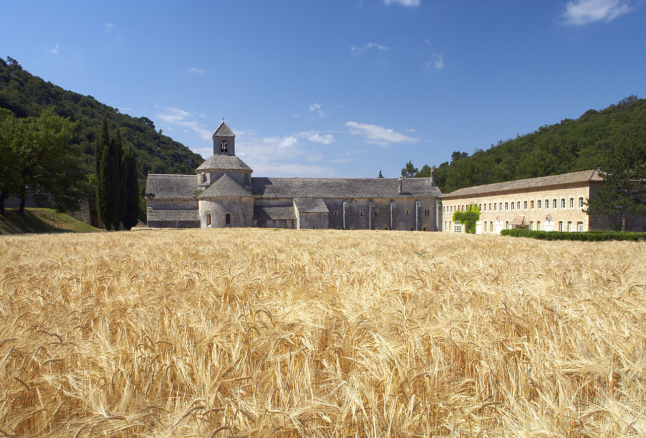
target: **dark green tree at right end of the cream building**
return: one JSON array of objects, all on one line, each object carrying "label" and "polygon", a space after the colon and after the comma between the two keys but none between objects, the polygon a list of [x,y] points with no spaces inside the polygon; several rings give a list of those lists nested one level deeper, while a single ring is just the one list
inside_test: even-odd
[{"label": "dark green tree at right end of the cream building", "polygon": [[625,231],[629,214],[646,214],[646,144],[634,140],[617,144],[604,170],[604,184],[589,199],[585,212],[620,214]]}]

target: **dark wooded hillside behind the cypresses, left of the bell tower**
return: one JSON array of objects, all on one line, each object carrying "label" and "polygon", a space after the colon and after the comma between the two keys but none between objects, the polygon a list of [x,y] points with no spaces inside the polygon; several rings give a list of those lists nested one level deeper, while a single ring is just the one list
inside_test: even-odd
[{"label": "dark wooded hillside behind the cypresses, left of the bell tower", "polygon": [[[149,172],[193,174],[202,163],[201,155],[157,132],[147,117],[120,114],[118,108],[104,105],[90,95],[63,90],[23,70],[16,60],[9,57],[7,60],[0,59],[0,108],[12,111],[17,117],[28,117],[52,107],[56,114],[76,122],[72,143],[78,144],[83,151],[87,175],[94,174],[95,137],[104,115],[110,128],[121,129],[124,146],[134,146],[142,190]],[[94,196],[92,192],[87,195]]]}]

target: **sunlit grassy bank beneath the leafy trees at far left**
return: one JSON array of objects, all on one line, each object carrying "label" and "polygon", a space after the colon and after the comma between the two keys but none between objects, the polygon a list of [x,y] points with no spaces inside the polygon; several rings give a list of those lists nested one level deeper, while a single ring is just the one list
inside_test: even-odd
[{"label": "sunlit grassy bank beneath the leafy trees at far left", "polygon": [[91,225],[50,208],[26,208],[25,216],[17,208],[7,208],[0,216],[0,234],[94,232]]}]

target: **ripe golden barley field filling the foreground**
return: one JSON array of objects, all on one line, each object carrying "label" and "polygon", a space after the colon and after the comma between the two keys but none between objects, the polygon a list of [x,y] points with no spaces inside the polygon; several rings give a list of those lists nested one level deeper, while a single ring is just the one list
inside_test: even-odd
[{"label": "ripe golden barley field filling the foreground", "polygon": [[7,437],[644,437],[646,244],[0,237]]}]

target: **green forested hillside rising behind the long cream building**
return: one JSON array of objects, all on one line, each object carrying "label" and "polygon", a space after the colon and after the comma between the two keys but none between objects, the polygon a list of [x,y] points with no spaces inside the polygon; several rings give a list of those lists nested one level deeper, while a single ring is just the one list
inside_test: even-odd
[{"label": "green forested hillside rising behind the long cream building", "polygon": [[[487,150],[476,149],[472,155],[453,152],[450,163],[435,169],[435,181],[443,193],[450,193],[480,184],[603,168],[619,143],[646,144],[646,99],[632,95],[605,110],[588,110],[576,120],[541,126]],[[417,176],[428,176],[421,173]]]}]

